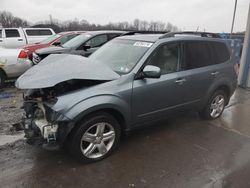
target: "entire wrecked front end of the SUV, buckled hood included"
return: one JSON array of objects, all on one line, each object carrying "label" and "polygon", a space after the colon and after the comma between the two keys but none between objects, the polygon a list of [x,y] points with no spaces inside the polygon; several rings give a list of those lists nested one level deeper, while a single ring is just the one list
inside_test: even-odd
[{"label": "entire wrecked front end of the SUV, buckled hood included", "polygon": [[[62,146],[74,126],[64,114],[79,102],[70,96],[119,77],[104,64],[69,54],[50,55],[26,71],[16,87],[27,90],[22,127],[28,143],[47,149]],[[84,96],[88,97],[87,92],[79,100]]]}]

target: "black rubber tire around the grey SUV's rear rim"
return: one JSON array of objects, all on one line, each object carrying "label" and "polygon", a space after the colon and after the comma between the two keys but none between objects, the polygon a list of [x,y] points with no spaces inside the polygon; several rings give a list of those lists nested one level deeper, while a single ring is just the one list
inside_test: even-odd
[{"label": "black rubber tire around the grey SUV's rear rim", "polygon": [[[220,112],[218,112],[216,114],[216,116],[212,116],[211,115],[211,113],[212,113],[211,112],[212,111],[211,106],[213,104],[213,101],[216,99],[216,97],[219,97],[219,96],[223,96],[223,98],[224,98],[223,108],[222,108],[222,110]],[[226,94],[225,91],[223,91],[223,90],[215,91],[214,94],[208,100],[208,102],[207,102],[206,106],[204,107],[204,109],[199,112],[200,117],[203,118],[203,119],[207,119],[207,120],[213,120],[213,119],[219,118],[221,116],[221,114],[223,113],[223,111],[224,111],[227,100],[228,100],[228,95]]]}]

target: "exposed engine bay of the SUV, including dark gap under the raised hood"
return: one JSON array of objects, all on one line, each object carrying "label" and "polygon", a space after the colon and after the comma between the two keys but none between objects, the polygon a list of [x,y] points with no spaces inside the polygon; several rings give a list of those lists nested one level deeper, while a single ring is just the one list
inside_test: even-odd
[{"label": "exposed engine bay of the SUV, including dark gap under the raised hood", "polygon": [[[54,87],[30,89],[24,93],[23,129],[29,144],[42,144],[44,147],[58,148],[64,135],[71,130],[70,121],[60,122],[60,114],[51,109],[57,102],[57,97],[78,89],[83,89],[104,83],[98,80],[69,80]],[[68,126],[61,126],[66,124]]]}]

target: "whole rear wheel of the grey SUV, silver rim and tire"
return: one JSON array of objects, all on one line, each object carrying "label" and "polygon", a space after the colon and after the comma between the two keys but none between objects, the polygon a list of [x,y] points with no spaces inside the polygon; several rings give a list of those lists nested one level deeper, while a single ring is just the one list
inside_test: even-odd
[{"label": "whole rear wheel of the grey SUV, silver rim and tire", "polygon": [[204,119],[216,119],[221,116],[227,101],[227,95],[223,90],[216,91],[209,99],[206,107],[200,112]]}]

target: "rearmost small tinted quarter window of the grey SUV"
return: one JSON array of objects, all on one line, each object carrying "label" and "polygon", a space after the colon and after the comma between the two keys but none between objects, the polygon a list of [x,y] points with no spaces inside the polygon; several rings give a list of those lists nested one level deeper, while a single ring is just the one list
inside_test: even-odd
[{"label": "rearmost small tinted quarter window of the grey SUV", "polygon": [[230,53],[226,44],[222,42],[210,42],[215,64],[223,63],[230,59]]}]

